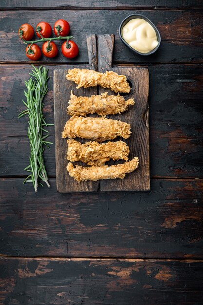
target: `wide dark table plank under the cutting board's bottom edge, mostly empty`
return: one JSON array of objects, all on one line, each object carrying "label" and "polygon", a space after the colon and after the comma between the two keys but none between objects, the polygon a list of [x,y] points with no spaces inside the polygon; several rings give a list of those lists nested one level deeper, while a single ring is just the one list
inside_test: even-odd
[{"label": "wide dark table plank under the cutting board's bottom edge, mostly empty", "polygon": [[1,255],[202,258],[203,180],[85,196],[22,182],[0,179]]}]

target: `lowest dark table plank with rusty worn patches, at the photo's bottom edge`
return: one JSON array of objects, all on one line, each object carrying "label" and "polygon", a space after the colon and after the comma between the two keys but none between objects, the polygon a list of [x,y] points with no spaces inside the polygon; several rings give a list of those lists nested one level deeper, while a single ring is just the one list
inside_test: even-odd
[{"label": "lowest dark table plank with rusty worn patches, at the photo's bottom edge", "polygon": [[202,304],[203,261],[0,259],[0,305]]}]

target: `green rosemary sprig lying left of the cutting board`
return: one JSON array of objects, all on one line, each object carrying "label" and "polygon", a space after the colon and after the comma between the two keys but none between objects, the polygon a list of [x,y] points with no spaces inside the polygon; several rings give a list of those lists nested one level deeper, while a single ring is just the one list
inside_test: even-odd
[{"label": "green rosemary sprig lying left of the cutting board", "polygon": [[43,114],[43,99],[48,91],[47,82],[49,79],[48,69],[45,67],[36,68],[34,67],[32,77],[28,81],[25,81],[27,91],[24,91],[26,102],[23,103],[27,107],[26,110],[19,114],[19,118],[28,114],[28,138],[30,140],[30,164],[25,168],[25,171],[31,172],[31,174],[25,179],[25,182],[32,182],[35,191],[37,191],[38,185],[42,185],[38,180],[44,181],[48,187],[50,184],[48,182],[47,172],[44,165],[44,145],[49,147],[51,142],[46,141],[47,135],[43,136],[43,132],[48,133],[44,128],[53,124],[47,124],[44,119]]}]

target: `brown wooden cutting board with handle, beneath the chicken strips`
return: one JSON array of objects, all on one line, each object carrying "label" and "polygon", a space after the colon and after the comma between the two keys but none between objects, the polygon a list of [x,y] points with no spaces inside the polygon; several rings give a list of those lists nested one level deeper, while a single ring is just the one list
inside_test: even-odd
[{"label": "brown wooden cutting board with handle, beneath the chicken strips", "polygon": [[[78,183],[66,170],[68,160],[66,159],[67,140],[61,137],[64,125],[70,116],[66,112],[71,90],[77,96],[91,96],[108,91],[97,87],[76,89],[76,84],[67,81],[65,75],[67,69],[54,70],[54,116],[55,116],[55,153],[56,153],[56,178],[57,190],[59,192],[82,192],[82,191],[148,191],[150,189],[149,177],[149,108],[148,91],[149,75],[148,69],[133,66],[112,67],[112,54],[114,46],[114,35],[91,35],[87,37],[88,57],[90,69],[99,72],[113,70],[118,74],[127,76],[132,90],[129,94],[122,94],[125,99],[134,98],[135,105],[122,114],[110,115],[108,118],[121,120],[131,125],[131,136],[128,139],[116,138],[114,141],[122,140],[130,148],[129,160],[134,156],[139,157],[138,168],[124,179],[85,181]],[[82,65],[71,66],[71,68],[86,68]],[[91,115],[97,116],[97,115]],[[85,143],[85,139],[76,139]],[[109,161],[106,164],[118,164],[124,161]],[[77,162],[86,166],[81,162]]]}]

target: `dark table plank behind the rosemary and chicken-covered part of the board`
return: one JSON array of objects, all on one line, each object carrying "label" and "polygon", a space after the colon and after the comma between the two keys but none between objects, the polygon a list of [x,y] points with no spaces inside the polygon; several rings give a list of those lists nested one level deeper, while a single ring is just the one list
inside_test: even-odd
[{"label": "dark table plank behind the rosemary and chicken-covered part of the board", "polygon": [[[45,98],[47,122],[54,122],[53,69]],[[68,67],[67,67],[68,68]],[[202,177],[203,65],[155,65],[149,69],[151,176]],[[18,119],[24,98],[24,80],[31,66],[0,66],[1,176],[26,175],[29,143],[27,118]],[[54,142],[54,127],[49,127]],[[55,176],[55,147],[45,150],[48,173]]]}]

